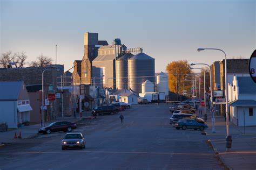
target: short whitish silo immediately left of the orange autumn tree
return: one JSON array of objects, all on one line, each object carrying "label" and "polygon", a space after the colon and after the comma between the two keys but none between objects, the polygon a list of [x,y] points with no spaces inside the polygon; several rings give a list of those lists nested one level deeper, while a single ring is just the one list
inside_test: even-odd
[{"label": "short whitish silo immediately left of the orange autumn tree", "polygon": [[157,92],[169,95],[169,79],[166,73],[161,72],[157,75]]}]

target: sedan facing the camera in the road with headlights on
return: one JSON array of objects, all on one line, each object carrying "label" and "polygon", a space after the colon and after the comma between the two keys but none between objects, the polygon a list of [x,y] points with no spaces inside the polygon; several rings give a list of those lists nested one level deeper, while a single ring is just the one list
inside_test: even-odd
[{"label": "sedan facing the camera in the road with headlights on", "polygon": [[85,138],[82,133],[66,133],[62,138],[62,150],[66,148],[85,148]]}]

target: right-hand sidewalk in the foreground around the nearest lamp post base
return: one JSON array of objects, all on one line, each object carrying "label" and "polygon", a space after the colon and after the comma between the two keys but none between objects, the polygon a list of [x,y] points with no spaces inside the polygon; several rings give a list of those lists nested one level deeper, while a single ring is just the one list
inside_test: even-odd
[{"label": "right-hand sidewalk in the foreground around the nearest lamp post base", "polygon": [[212,132],[211,114],[206,122],[208,140],[217,157],[229,169],[256,169],[256,127],[238,127],[230,122],[232,151],[226,152],[226,122],[223,116],[215,116],[215,133]]}]

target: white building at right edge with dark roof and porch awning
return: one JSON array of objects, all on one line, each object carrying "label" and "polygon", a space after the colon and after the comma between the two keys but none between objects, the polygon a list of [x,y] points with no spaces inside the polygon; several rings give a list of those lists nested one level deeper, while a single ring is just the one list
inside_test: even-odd
[{"label": "white building at right edge with dark roof and porch awning", "polygon": [[256,125],[256,84],[251,77],[233,77],[228,84],[231,122],[237,126]]}]

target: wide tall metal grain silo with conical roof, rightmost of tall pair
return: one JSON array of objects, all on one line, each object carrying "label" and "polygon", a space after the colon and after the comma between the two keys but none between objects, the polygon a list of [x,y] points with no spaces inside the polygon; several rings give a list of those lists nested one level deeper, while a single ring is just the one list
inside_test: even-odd
[{"label": "wide tall metal grain silo with conical roof, rightmost of tall pair", "polygon": [[142,93],[142,83],[146,80],[155,82],[154,59],[145,54],[138,53],[128,60],[129,88],[136,93]]}]

